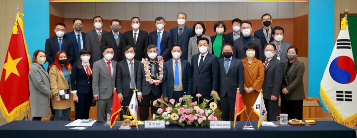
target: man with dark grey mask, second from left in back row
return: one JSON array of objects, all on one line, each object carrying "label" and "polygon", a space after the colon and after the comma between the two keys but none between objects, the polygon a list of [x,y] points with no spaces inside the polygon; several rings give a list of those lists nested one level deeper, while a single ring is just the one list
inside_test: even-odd
[{"label": "man with dark grey mask, second from left in back row", "polygon": [[64,37],[72,41],[74,52],[73,59],[72,61],[68,61],[73,64],[77,62],[79,51],[85,47],[85,33],[82,32],[83,21],[80,18],[75,18],[73,20],[72,27],[74,31],[65,34]]}]

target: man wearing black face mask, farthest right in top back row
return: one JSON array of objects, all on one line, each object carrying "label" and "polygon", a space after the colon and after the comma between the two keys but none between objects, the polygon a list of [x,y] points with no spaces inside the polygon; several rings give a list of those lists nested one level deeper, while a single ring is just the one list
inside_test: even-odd
[{"label": "man wearing black face mask, farthest right in top back row", "polygon": [[[268,44],[274,40],[272,34],[272,18],[271,15],[265,13],[261,17],[263,28],[260,28],[254,32],[254,37],[259,39],[261,42],[262,49],[264,48],[265,44]],[[259,49],[260,50],[260,49]]]}]

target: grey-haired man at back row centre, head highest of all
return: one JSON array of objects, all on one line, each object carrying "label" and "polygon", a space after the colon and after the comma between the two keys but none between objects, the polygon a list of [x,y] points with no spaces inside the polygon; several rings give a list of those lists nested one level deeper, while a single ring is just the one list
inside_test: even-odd
[{"label": "grey-haired man at back row centre, head highest of all", "polygon": [[180,12],[177,15],[177,19],[179,26],[171,28],[170,33],[172,34],[173,44],[179,44],[182,47],[181,59],[187,60],[188,42],[194,35],[192,28],[185,25],[187,21],[186,13]]}]

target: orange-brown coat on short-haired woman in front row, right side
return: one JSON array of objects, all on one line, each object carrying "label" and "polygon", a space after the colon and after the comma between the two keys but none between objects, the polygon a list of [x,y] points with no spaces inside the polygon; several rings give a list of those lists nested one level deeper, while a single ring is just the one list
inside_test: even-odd
[{"label": "orange-brown coat on short-haired woman in front row, right side", "polygon": [[[244,66],[244,87],[251,87],[254,89],[254,91],[250,92],[249,94],[244,91],[242,94],[243,104],[247,109],[247,113],[249,114],[252,110],[250,107],[254,105],[255,100],[259,95],[258,91],[261,90],[263,85],[264,66],[263,63],[255,57],[253,58],[250,66],[248,63],[248,57],[245,57],[241,61],[243,62]],[[239,119],[240,121],[246,121],[248,117],[245,113],[242,113],[240,114]],[[255,113],[252,113],[249,119],[250,121],[258,121],[259,117]]]}]

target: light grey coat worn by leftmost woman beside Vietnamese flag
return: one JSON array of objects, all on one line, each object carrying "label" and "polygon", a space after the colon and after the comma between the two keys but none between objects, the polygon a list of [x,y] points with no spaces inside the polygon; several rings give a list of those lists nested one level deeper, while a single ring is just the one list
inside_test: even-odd
[{"label": "light grey coat worn by leftmost woman beside Vietnamese flag", "polygon": [[33,63],[29,72],[30,105],[33,117],[49,116],[49,95],[52,94],[50,77],[45,67]]}]

